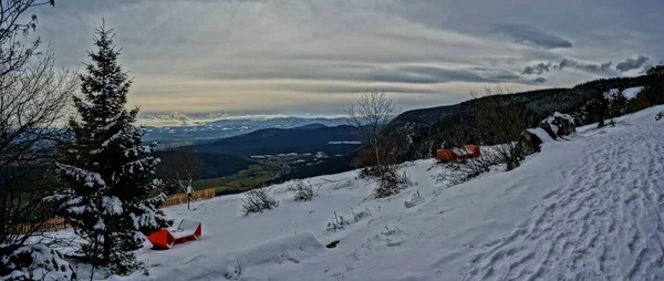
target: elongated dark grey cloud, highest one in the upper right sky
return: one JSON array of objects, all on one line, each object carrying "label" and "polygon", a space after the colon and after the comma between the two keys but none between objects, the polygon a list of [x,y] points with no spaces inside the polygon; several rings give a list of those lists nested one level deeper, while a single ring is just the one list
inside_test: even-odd
[{"label": "elongated dark grey cloud, highest one in the upper right sky", "polygon": [[530,25],[506,24],[499,27],[498,30],[513,38],[515,42],[519,44],[543,49],[572,48],[572,42],[569,40]]}]

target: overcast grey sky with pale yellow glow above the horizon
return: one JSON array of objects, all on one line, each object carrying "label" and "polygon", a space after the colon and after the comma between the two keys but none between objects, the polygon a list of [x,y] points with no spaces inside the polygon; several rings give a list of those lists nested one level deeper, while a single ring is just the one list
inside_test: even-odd
[{"label": "overcast grey sky with pale yellow glow above the horizon", "polygon": [[637,75],[664,59],[662,11],[661,0],[58,0],[37,10],[37,33],[76,69],[105,19],[144,114],[333,115],[372,89],[409,110],[488,84]]}]

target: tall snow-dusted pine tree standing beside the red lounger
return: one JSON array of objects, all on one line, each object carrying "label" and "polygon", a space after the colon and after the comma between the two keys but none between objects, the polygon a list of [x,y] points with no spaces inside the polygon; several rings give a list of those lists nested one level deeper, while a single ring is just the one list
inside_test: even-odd
[{"label": "tall snow-dusted pine tree standing beside the red lounger", "polygon": [[155,196],[156,144],[144,145],[143,128],[133,125],[138,108],[125,108],[132,81],[117,63],[113,37],[104,27],[93,37],[97,51],[89,52],[92,63],[80,75],[83,95],[74,97],[80,116],[69,124],[72,139],[55,168],[63,190],[54,198],[66,204],[63,216],[86,239],[82,252],[93,266],[126,273],[137,266],[142,232],[172,221],[157,209],[164,195]]}]

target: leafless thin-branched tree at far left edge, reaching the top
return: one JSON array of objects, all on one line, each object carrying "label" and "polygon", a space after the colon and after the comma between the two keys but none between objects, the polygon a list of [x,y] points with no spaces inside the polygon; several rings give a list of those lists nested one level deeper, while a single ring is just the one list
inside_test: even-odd
[{"label": "leafless thin-branched tree at far left edge, reaching the top", "polygon": [[44,204],[55,186],[44,169],[58,157],[77,79],[54,66],[51,49],[40,52],[33,32],[45,4],[54,0],[0,1],[0,246],[24,244],[60,207]]}]

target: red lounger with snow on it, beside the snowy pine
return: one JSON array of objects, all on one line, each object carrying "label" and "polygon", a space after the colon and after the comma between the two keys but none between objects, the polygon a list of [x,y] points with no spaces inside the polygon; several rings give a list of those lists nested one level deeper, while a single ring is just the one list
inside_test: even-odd
[{"label": "red lounger with snow on it, beside the snowy pine", "polygon": [[203,236],[203,223],[189,219],[183,219],[176,229],[160,229],[146,235],[153,249],[170,249],[175,243],[198,240],[200,236]]}]

